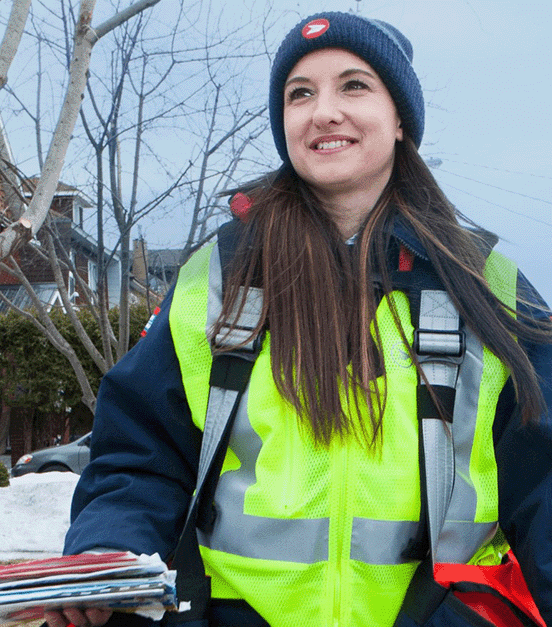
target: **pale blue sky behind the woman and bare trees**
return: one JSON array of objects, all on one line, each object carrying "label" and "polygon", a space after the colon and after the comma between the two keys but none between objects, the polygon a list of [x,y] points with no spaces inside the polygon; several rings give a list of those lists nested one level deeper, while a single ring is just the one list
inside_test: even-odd
[{"label": "pale blue sky behind the woman and bare trees", "polygon": [[[130,0],[122,1],[122,6],[129,3]],[[160,0],[149,10],[151,18],[160,25],[170,24],[177,3],[178,0]],[[268,6],[264,2],[211,0],[210,11],[207,4],[207,0],[193,4],[196,9],[201,5],[207,32],[211,20],[217,27],[222,24],[230,30],[241,28],[241,36],[251,41],[261,38],[259,13],[262,15]],[[0,7],[0,12],[6,7]],[[268,13],[272,50],[299,19],[328,10],[358,11],[366,17],[385,20],[410,39],[414,69],[426,101],[421,155],[433,164],[438,182],[457,208],[502,238],[498,249],[519,264],[552,304],[552,3],[278,0]],[[97,0],[93,24],[112,12],[110,0]],[[256,19],[250,24],[252,15]],[[93,60],[105,53],[104,40],[100,40]],[[21,66],[22,62],[16,58],[17,63]],[[268,68],[268,60],[261,60],[248,69],[249,76],[243,79],[245,97],[252,102],[266,102]],[[10,71],[10,84],[24,89],[23,73],[19,77],[17,71]],[[49,71],[50,68],[44,70],[46,74]],[[51,85],[50,89],[54,89],[54,82]],[[21,116],[17,118],[5,111],[2,116],[16,160],[24,166],[28,156],[23,144],[33,134],[23,129]],[[185,162],[186,155],[172,143],[178,131],[169,126],[157,138],[165,142],[167,155],[163,163],[149,164],[144,185],[154,187],[170,162]],[[272,155],[277,165],[269,134],[266,140],[267,156]],[[79,184],[74,169],[78,164],[76,156],[68,159],[62,177],[66,182]],[[71,171],[67,169],[70,166]],[[175,197],[168,213],[152,214],[141,229],[150,248],[179,248],[188,219],[189,204]],[[133,237],[137,236],[135,230]]]}]

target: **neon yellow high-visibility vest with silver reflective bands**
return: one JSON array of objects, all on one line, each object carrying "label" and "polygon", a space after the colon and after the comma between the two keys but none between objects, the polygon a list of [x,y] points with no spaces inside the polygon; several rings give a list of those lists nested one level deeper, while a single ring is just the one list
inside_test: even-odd
[{"label": "neon yellow high-visibility vest with silver reflective bands", "polygon": [[[486,278],[515,309],[515,266],[492,252]],[[181,269],[171,332],[194,423],[209,396],[209,330],[222,278],[216,245]],[[409,342],[407,296],[393,292]],[[213,532],[199,533],[213,597],[245,599],[271,627],[391,627],[417,567],[403,557],[420,517],[417,373],[386,299],[377,311],[387,375],[383,445],[354,437],[315,444],[278,393],[270,336],[242,398],[215,493]],[[456,391],[456,478],[438,561],[498,563],[498,489],[492,425],[509,373],[466,329]],[[462,371],[464,374],[462,374]],[[376,381],[374,385],[381,385]],[[367,412],[367,408],[366,408]],[[362,419],[352,416],[353,420]]]}]

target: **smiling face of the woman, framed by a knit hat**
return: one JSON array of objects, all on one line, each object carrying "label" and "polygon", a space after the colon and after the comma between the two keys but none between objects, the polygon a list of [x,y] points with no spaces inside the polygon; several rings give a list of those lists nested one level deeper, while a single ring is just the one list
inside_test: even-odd
[{"label": "smiling face of the woman, framed by a knit hat", "polygon": [[284,132],[295,171],[324,197],[385,187],[403,132],[373,68],[346,50],[304,56],[284,88]]}]

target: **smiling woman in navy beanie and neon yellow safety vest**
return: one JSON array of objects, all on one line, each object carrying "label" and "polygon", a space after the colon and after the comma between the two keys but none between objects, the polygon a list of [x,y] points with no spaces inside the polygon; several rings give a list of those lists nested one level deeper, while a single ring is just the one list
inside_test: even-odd
[{"label": "smiling woman in navy beanie and neon yellow safety vest", "polygon": [[[357,15],[311,16],[284,39],[270,82],[283,166],[234,197],[241,221],[221,231],[224,245],[184,266],[148,336],[104,378],[66,553],[171,557],[196,486],[213,355],[232,352],[236,330],[242,346],[266,332],[215,522],[199,534],[209,624],[393,625],[435,542],[423,522],[422,418],[446,423],[455,442],[434,557],[500,563],[499,522],[552,624],[549,311],[490,252],[489,234],[459,225],[418,155],[411,61],[399,31]],[[441,330],[435,321],[456,310],[462,322]],[[422,347],[439,334],[462,340],[444,369]],[[139,620],[110,616],[47,618]]]}]

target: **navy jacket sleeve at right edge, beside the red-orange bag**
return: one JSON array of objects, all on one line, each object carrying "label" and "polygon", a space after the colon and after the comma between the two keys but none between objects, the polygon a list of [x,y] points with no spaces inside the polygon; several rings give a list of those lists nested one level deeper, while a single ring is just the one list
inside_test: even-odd
[{"label": "navy jacket sleeve at right edge, beside the red-orange bag", "polygon": [[[549,309],[523,275],[518,292],[530,304],[518,309],[533,318]],[[552,344],[525,344],[540,380],[545,406],[540,419],[523,425],[511,381],[495,421],[499,521],[520,562],[547,625],[552,625]]]}]

